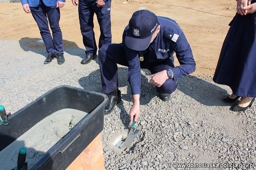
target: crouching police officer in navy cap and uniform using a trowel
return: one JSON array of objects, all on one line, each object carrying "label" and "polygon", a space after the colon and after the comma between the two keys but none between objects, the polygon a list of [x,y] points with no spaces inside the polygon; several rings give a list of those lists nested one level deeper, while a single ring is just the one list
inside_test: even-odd
[{"label": "crouching police officer in navy cap and uniform using a trowel", "polygon": [[[173,54],[180,63],[174,66]],[[130,121],[139,116],[141,94],[141,68],[152,75],[150,83],[156,86],[160,99],[168,101],[178,87],[177,79],[195,70],[195,61],[189,43],[178,24],[166,17],[156,16],[147,10],[133,13],[123,32],[121,44],[106,44],[99,50],[102,92],[108,93],[109,104],[105,115],[111,113],[121,101],[118,89],[117,64],[128,66],[128,81],[131,86],[133,106]]]}]

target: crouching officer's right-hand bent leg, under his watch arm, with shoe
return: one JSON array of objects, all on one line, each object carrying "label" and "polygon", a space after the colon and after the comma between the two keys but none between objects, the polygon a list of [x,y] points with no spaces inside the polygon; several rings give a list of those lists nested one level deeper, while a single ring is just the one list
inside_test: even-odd
[{"label": "crouching officer's right-hand bent leg, under his watch arm, with shoe", "polygon": [[[148,70],[155,74],[156,72],[161,72],[163,70],[172,69],[174,64],[172,60],[166,60],[159,63],[154,63],[148,68]],[[167,71],[166,71],[167,74]],[[178,87],[177,81],[173,79],[167,79],[164,84],[160,87],[156,87],[156,91],[159,93],[159,97],[163,101],[168,101],[171,98],[171,93],[173,93]]]}]

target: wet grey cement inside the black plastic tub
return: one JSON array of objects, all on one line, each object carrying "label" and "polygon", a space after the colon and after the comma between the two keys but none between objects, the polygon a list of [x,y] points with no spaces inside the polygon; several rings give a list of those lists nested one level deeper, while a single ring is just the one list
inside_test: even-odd
[{"label": "wet grey cement inside the black plastic tub", "polygon": [[28,169],[32,168],[42,159],[45,152],[85,115],[87,113],[80,110],[62,109],[45,117],[0,152],[0,167],[11,170],[17,166],[19,149],[25,147],[27,148]]}]

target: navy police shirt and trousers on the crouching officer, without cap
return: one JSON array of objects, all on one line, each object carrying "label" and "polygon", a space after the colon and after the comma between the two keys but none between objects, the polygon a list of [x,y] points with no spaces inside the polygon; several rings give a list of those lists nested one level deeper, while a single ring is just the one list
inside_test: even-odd
[{"label": "navy police shirt and trousers on the crouching officer, without cap", "polygon": [[[128,81],[132,95],[141,94],[141,68],[148,69],[152,74],[171,69],[174,78],[156,87],[157,92],[169,94],[178,87],[177,79],[180,76],[194,72],[195,61],[183,31],[170,18],[157,16],[157,20],[158,25],[161,25],[160,32],[146,50],[136,51],[126,46],[125,36],[129,26],[123,32],[121,44],[107,44],[100,48],[99,62],[103,93],[110,93],[118,88],[117,64],[128,66]],[[176,67],[174,53],[180,63]]]}]

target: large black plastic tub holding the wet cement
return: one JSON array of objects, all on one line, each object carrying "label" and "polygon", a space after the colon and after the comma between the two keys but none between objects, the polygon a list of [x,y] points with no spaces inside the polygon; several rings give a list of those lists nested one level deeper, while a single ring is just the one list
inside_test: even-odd
[{"label": "large black plastic tub holding the wet cement", "polygon": [[64,108],[81,110],[88,115],[83,117],[31,168],[66,169],[102,131],[104,107],[108,101],[108,97],[101,93],[66,85],[55,87],[9,116],[9,125],[0,123],[0,151],[46,116]]}]

